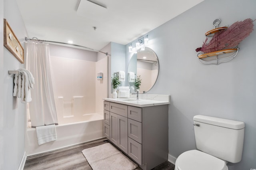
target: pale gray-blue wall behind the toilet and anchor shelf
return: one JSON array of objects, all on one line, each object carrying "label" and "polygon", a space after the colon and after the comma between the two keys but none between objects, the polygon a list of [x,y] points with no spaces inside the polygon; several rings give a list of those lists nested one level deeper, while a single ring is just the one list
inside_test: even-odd
[{"label": "pale gray-blue wall behind the toilet and anchor shelf", "polygon": [[[213,29],[212,22],[229,26],[256,19],[255,0],[205,0],[148,33],[160,62],[158,79],[149,94],[171,95],[169,154],[177,158],[195,149],[192,119],[208,115],[246,124],[242,161],[229,170],[256,168],[256,30],[239,45],[236,58],[220,65],[203,65],[195,49]],[[254,24],[256,24],[254,22]],[[256,26],[254,26],[256,29]],[[126,45],[126,61],[131,54]],[[127,62],[128,63],[128,62]],[[127,68],[127,65],[126,65]]]}]

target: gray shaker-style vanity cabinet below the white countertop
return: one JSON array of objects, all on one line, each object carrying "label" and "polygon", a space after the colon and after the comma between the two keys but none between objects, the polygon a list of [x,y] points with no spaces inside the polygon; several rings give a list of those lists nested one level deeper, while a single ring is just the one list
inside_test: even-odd
[{"label": "gray shaker-style vanity cabinet below the white countertop", "polygon": [[167,104],[135,107],[110,101],[109,112],[110,134],[105,136],[140,168],[150,170],[168,160]]}]

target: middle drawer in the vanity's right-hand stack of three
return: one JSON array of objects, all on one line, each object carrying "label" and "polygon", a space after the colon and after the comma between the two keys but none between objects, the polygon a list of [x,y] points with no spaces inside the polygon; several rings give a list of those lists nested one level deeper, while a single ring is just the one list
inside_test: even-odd
[{"label": "middle drawer in the vanity's right-hand stack of three", "polygon": [[142,143],[142,123],[128,119],[128,137]]}]

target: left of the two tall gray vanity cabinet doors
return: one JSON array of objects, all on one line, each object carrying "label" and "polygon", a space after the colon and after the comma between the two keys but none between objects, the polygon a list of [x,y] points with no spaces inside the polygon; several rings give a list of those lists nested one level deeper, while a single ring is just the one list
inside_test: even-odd
[{"label": "left of the two tall gray vanity cabinet doors", "polygon": [[110,112],[110,141],[118,146],[118,119],[115,113]]}]

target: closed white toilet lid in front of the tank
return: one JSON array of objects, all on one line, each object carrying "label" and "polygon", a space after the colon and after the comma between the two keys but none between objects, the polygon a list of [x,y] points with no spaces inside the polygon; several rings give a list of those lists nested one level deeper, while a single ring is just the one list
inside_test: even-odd
[{"label": "closed white toilet lid in front of the tank", "polygon": [[189,150],[178,156],[175,166],[178,170],[227,170],[226,163],[199,150]]}]

